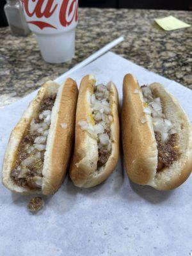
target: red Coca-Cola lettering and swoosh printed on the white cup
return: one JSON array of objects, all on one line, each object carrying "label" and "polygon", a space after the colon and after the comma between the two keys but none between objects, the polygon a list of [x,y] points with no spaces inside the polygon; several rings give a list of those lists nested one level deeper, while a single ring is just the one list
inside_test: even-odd
[{"label": "red Coca-Cola lettering and swoosh printed on the white cup", "polygon": [[[32,1],[35,4],[33,10],[29,10],[29,1]],[[78,9],[78,0],[63,0],[61,6],[59,7],[57,3],[54,3],[54,0],[21,0],[22,8],[24,8],[26,15],[33,17],[36,15],[38,19],[45,17],[50,18],[53,13],[56,11],[56,8],[60,8],[59,20],[60,24],[63,27],[69,26],[73,20],[77,21],[77,9]],[[44,2],[47,2],[45,4]],[[54,28],[57,29],[53,24],[48,22],[43,22],[40,20],[31,20],[28,23],[38,26],[40,29],[44,28]]]}]

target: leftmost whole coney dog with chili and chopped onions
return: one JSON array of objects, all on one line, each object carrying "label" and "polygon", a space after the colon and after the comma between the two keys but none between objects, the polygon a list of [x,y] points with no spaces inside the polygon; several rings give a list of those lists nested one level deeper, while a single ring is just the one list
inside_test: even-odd
[{"label": "leftmost whole coney dog with chili and chopped onions", "polygon": [[2,182],[15,193],[51,195],[67,170],[75,129],[77,84],[48,81],[10,135]]}]

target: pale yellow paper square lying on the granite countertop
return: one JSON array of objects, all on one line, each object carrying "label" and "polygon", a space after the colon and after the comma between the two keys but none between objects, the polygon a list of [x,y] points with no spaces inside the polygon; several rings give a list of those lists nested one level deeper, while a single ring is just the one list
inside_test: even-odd
[{"label": "pale yellow paper square lying on the granite countertop", "polygon": [[191,25],[182,22],[179,19],[176,19],[173,16],[168,16],[161,19],[155,19],[157,24],[166,31],[180,29],[180,28],[189,28]]}]

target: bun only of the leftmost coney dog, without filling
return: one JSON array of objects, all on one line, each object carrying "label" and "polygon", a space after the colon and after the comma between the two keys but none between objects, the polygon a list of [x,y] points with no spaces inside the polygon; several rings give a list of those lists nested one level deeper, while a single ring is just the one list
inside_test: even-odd
[{"label": "bun only of the leftmost coney dog, without filling", "polygon": [[[42,170],[42,189],[31,189],[15,184],[11,172],[15,164],[15,158],[26,130],[35,118],[40,102],[44,97],[57,93],[51,114],[51,126],[47,137]],[[60,188],[67,170],[68,160],[72,149],[75,129],[77,85],[72,79],[67,79],[62,86],[48,81],[40,88],[35,99],[29,104],[28,109],[22,115],[15,126],[6,148],[3,161],[2,182],[6,188],[20,194],[44,194],[51,195]],[[64,127],[62,127],[65,124]]]}]

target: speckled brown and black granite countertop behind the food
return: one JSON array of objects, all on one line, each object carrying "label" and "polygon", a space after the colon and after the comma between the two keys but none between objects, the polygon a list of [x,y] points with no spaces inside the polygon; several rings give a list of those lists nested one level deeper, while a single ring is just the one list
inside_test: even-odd
[{"label": "speckled brown and black granite countertop behind the food", "polygon": [[155,18],[173,15],[192,24],[191,12],[161,10],[79,10],[76,56],[60,65],[45,63],[34,36],[15,37],[0,28],[0,106],[33,92],[100,49],[125,35],[113,52],[192,89],[192,27],[164,31]]}]

